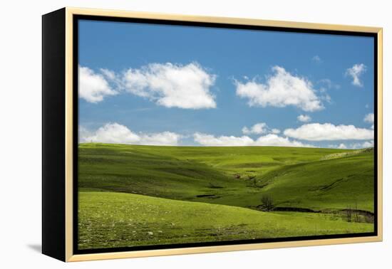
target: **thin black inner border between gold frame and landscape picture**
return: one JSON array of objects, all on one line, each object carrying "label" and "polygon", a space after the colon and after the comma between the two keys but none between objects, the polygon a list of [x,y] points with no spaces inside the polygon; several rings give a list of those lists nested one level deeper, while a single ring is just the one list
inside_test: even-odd
[{"label": "thin black inner border between gold frame and landscape picture", "polygon": [[[110,22],[128,22],[128,23],[149,23],[149,24],[164,24],[172,26],[198,26],[211,28],[232,28],[244,30],[259,30],[259,31],[279,31],[289,33],[319,33],[332,34],[340,36],[367,36],[373,37],[373,87],[374,87],[374,231],[372,233],[346,233],[333,234],[325,236],[295,236],[287,238],[262,238],[250,240],[237,241],[219,241],[219,242],[203,242],[203,243],[182,243],[171,245],[153,245],[153,246],[133,246],[122,248],[93,248],[93,249],[78,249],[78,21],[110,21]],[[136,18],[119,18],[110,16],[91,16],[91,15],[73,15],[73,254],[88,254],[88,253],[110,253],[120,251],[132,250],[157,250],[168,248],[192,248],[202,246],[227,246],[239,245],[249,243],[271,243],[271,242],[285,242],[285,241],[307,241],[316,239],[331,239],[331,238],[356,238],[363,236],[377,236],[378,235],[378,39],[377,33],[360,33],[354,31],[330,31],[330,30],[315,30],[305,28],[286,28],[274,26],[251,26],[238,25],[230,23],[205,23],[205,22],[191,22],[191,21],[170,21],[160,19],[136,19]]]}]

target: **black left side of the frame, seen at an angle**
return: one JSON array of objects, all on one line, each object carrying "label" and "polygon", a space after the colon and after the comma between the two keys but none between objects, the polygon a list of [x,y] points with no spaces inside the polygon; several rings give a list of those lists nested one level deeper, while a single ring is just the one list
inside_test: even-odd
[{"label": "black left side of the frame, seen at an angle", "polygon": [[65,9],[42,16],[42,253],[64,255]]}]

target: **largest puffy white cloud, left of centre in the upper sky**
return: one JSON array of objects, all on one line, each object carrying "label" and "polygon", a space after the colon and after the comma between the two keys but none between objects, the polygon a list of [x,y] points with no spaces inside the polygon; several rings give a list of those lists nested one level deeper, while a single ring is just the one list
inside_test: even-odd
[{"label": "largest puffy white cloud, left of centre in the upper sky", "polygon": [[198,63],[150,63],[125,71],[123,87],[164,107],[215,108],[215,96],[210,92],[215,78]]}]

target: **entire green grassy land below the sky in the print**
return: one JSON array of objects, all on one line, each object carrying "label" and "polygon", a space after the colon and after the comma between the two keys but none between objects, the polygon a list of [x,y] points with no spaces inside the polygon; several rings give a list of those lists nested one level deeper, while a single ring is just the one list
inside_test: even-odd
[{"label": "entire green grassy land below the sky in the print", "polygon": [[373,231],[373,150],[78,146],[80,249]]}]

